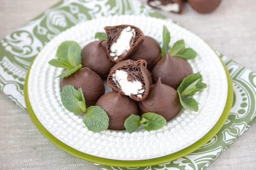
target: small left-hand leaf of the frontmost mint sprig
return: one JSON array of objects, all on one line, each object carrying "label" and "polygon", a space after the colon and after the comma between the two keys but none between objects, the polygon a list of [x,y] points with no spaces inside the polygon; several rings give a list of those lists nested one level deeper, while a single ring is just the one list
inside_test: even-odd
[{"label": "small left-hand leaf of the frontmost mint sprig", "polygon": [[132,133],[134,132],[138,127],[140,127],[140,116],[131,114],[126,120],[125,120],[125,129]]}]

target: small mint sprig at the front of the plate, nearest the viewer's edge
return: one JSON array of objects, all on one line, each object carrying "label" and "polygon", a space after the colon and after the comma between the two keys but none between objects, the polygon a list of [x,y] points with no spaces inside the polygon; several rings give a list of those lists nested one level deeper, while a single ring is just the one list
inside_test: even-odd
[{"label": "small mint sprig at the front of the plate, nearest the viewer's edge", "polygon": [[140,125],[143,125],[145,130],[158,130],[166,125],[166,119],[156,113],[145,113],[141,117],[132,114],[125,120],[125,129],[132,133],[137,130]]}]

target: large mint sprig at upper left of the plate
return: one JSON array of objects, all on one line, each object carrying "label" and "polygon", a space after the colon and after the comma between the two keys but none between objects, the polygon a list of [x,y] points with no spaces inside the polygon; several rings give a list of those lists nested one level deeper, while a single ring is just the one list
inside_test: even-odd
[{"label": "large mint sprig at upper left of the plate", "polygon": [[54,67],[65,68],[65,72],[58,77],[67,77],[77,70],[82,65],[81,60],[81,47],[75,41],[64,41],[58,46],[57,59],[52,59],[49,64]]}]

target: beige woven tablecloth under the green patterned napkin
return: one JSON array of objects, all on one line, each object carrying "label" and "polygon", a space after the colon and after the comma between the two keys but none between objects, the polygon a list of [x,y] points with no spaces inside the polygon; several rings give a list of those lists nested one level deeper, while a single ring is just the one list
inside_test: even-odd
[{"label": "beige woven tablecloth under the green patterned napkin", "polygon": [[[145,0],[142,0],[145,2]],[[0,39],[58,0],[0,0]],[[256,1],[223,0],[209,15],[189,5],[182,15],[167,14],[213,48],[256,72]],[[256,124],[243,134],[209,170],[256,170]],[[49,142],[29,115],[0,94],[0,170],[99,170]]]}]

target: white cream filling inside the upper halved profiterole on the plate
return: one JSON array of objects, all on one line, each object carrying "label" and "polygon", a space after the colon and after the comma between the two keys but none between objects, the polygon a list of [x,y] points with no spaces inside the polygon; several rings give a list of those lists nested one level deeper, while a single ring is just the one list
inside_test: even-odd
[{"label": "white cream filling inside the upper halved profiterole on the plate", "polygon": [[127,54],[127,52],[131,49],[130,41],[134,37],[135,37],[135,30],[130,26],[124,28],[121,31],[116,42],[114,42],[110,48],[110,51],[111,51],[110,56],[113,57],[114,61],[118,59],[118,57],[115,57],[115,56],[121,56],[122,54]]}]

